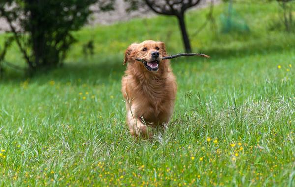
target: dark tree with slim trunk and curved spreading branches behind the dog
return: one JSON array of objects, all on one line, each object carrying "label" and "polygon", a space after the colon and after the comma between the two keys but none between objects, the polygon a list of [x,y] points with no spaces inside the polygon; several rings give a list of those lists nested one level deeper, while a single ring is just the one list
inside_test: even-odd
[{"label": "dark tree with slim trunk and curved spreading branches behind the dog", "polygon": [[[131,4],[132,9],[136,7],[139,2],[137,0],[126,0]],[[157,14],[176,16],[182,34],[182,40],[185,51],[190,53],[192,51],[189,36],[185,24],[185,12],[198,5],[202,0],[143,0],[148,7]]]}]

